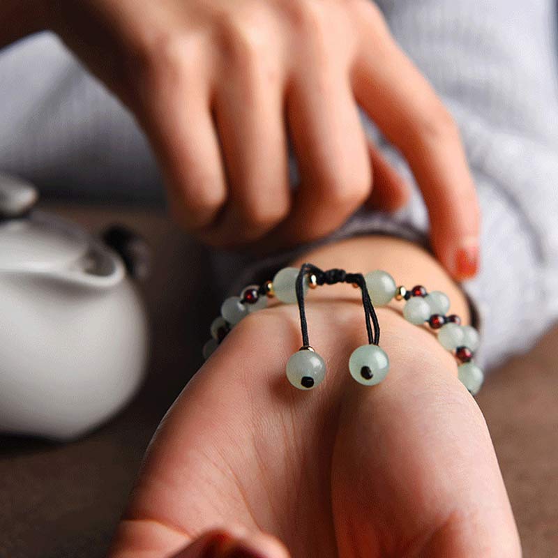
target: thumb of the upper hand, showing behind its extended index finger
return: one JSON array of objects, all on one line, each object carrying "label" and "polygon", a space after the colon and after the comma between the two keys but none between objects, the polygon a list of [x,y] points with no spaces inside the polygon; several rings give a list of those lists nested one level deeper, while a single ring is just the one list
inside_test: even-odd
[{"label": "thumb of the upper hand, showing behind its extended index finger", "polygon": [[400,209],[409,200],[409,186],[376,146],[369,144],[368,151],[374,174],[374,188],[366,205],[380,211]]}]

